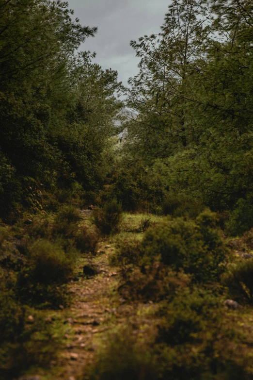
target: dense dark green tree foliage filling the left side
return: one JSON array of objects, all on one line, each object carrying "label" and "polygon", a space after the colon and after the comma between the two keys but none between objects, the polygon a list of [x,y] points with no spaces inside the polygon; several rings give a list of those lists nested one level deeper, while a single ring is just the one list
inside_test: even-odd
[{"label": "dense dark green tree foliage filling the left side", "polygon": [[66,2],[0,7],[0,217],[13,221],[41,209],[45,192],[63,202],[58,190],[77,181],[80,192],[99,189],[121,102],[117,73],[76,54],[96,28],[82,27]]}]

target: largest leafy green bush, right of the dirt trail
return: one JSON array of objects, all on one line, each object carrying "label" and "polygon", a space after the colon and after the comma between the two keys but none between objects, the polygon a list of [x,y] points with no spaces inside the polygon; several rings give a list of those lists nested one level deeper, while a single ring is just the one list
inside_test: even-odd
[{"label": "largest leafy green bush, right of the dirt trail", "polygon": [[195,281],[217,280],[227,248],[215,223],[215,214],[206,210],[195,221],[175,218],[149,229],[142,241],[143,262],[151,263],[158,256],[174,270],[193,274]]}]

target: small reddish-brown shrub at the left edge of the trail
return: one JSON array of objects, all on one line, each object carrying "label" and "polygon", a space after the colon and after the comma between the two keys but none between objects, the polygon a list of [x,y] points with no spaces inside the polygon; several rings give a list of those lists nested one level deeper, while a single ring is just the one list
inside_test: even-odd
[{"label": "small reddish-brown shrub at the left edge of the trail", "polygon": [[91,252],[95,253],[97,243],[99,241],[99,232],[95,229],[82,227],[75,235],[76,247],[81,253]]}]

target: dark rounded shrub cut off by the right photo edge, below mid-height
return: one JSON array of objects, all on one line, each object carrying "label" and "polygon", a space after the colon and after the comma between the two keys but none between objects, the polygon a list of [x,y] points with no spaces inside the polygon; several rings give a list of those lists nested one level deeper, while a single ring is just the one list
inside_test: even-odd
[{"label": "dark rounded shrub cut off by the right photo edge, below mid-height", "polygon": [[253,302],[253,259],[245,260],[237,264],[231,273],[225,278],[225,284],[229,292],[239,302],[242,298],[250,303]]}]

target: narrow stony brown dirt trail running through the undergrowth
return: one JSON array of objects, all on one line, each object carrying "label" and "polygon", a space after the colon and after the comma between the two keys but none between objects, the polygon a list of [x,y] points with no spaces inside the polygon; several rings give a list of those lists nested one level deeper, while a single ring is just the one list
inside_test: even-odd
[{"label": "narrow stony brown dirt trail running through the undergrowth", "polygon": [[[65,335],[68,343],[57,363],[61,370],[55,379],[78,380],[81,376],[83,379],[83,369],[93,363],[98,341],[105,335],[103,333],[120,324],[120,315],[117,314],[120,301],[115,292],[118,274],[109,265],[113,248],[106,246],[100,243],[99,256],[95,258],[101,273],[90,279],[80,278],[69,287],[72,305],[69,313],[64,310],[71,315],[65,320],[69,325]],[[82,267],[80,265],[80,271]]]}]

